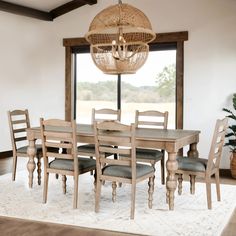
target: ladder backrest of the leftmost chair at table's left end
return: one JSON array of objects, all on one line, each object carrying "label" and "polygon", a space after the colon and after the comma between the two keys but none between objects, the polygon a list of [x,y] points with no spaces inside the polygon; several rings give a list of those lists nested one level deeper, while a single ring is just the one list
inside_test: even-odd
[{"label": "ladder backrest of the leftmost chair at table's left end", "polygon": [[30,128],[28,110],[8,111],[8,121],[10,126],[11,141],[13,152],[17,152],[17,148],[26,145],[26,129]]}]

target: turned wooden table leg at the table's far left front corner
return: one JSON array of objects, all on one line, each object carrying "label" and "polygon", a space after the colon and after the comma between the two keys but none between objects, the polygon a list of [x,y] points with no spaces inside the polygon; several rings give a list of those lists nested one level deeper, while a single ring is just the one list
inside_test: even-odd
[{"label": "turned wooden table leg at the table's far left front corner", "polygon": [[29,171],[29,187],[32,188],[33,187],[33,173],[36,166],[35,161],[34,161],[34,157],[36,155],[35,139],[29,140],[27,154],[29,156],[29,161],[27,163],[27,169]]}]

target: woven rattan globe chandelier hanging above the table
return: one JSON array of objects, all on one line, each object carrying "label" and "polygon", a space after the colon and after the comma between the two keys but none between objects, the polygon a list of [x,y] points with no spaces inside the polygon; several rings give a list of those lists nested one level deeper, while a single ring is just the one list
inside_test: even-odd
[{"label": "woven rattan globe chandelier hanging above the table", "polygon": [[139,9],[121,0],[98,13],[85,35],[95,65],[106,74],[135,73],[155,39],[151,23]]}]

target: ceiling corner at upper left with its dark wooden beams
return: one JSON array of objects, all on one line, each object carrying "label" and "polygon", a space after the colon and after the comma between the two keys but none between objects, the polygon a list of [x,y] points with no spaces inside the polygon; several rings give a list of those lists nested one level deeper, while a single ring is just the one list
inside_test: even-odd
[{"label": "ceiling corner at upper left with its dark wooden beams", "polygon": [[86,4],[96,4],[97,0],[0,0],[0,11],[52,21]]}]

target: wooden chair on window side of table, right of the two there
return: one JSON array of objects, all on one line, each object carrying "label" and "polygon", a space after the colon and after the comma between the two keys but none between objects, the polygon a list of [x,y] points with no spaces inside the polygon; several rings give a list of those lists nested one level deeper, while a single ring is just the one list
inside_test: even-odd
[{"label": "wooden chair on window side of table, right of the two there", "polygon": [[[168,112],[135,111],[135,126],[145,128],[167,129]],[[150,163],[154,168],[161,161],[161,182],[165,184],[165,151],[157,149],[136,149],[137,161]]]}]

